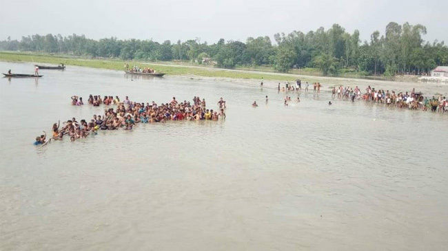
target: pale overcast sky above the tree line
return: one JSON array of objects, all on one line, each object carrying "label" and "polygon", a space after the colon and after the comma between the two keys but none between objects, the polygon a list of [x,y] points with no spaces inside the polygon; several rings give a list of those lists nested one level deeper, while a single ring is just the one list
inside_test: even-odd
[{"label": "pale overcast sky above the tree line", "polygon": [[426,26],[425,41],[448,43],[447,0],[1,0],[0,6],[0,40],[75,33],[91,39],[245,42],[338,23],[347,32],[359,30],[364,41],[375,30],[384,34],[390,21],[408,21]]}]

